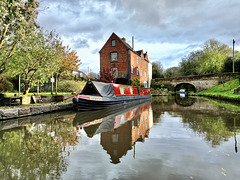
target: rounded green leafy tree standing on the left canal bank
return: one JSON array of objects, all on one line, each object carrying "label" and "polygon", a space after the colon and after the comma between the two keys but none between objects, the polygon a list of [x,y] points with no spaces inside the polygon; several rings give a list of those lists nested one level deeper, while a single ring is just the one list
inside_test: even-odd
[{"label": "rounded green leafy tree standing on the left canal bank", "polygon": [[38,30],[28,36],[15,53],[10,64],[10,75],[21,75],[24,94],[27,94],[32,86],[48,81],[52,73],[58,70],[59,62],[55,58],[57,41],[57,37],[52,33],[44,35]]}]

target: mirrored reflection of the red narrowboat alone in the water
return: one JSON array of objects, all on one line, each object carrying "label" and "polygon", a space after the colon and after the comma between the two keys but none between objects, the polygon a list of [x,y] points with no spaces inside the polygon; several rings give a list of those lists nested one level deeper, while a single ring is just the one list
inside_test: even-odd
[{"label": "mirrored reflection of the red narrowboat alone in the water", "polygon": [[[97,110],[90,114],[85,112],[78,112],[73,120],[73,126],[77,129],[84,128],[89,137],[102,132],[109,132],[117,129],[133,118],[140,116],[142,112],[149,109],[151,100],[144,103],[133,103],[131,105],[116,106],[117,110],[108,108],[107,110]],[[150,116],[150,114],[149,114]],[[147,119],[147,118],[146,118]],[[150,121],[151,120],[151,121]],[[152,122],[152,115],[149,117],[149,123]],[[152,124],[152,123],[151,123]],[[148,127],[152,127],[149,124]]]}]

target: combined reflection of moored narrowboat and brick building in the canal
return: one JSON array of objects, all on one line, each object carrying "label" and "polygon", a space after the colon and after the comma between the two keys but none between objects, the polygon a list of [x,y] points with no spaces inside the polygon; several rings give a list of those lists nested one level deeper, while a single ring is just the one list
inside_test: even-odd
[{"label": "combined reflection of moored narrowboat and brick building in the canal", "polygon": [[[111,113],[115,111],[115,113]],[[74,119],[77,129],[83,128],[88,137],[101,133],[100,144],[110,155],[111,163],[131,150],[136,142],[144,142],[153,126],[151,102],[111,110],[94,111],[91,118],[79,112]],[[104,117],[103,117],[104,116]]]}]

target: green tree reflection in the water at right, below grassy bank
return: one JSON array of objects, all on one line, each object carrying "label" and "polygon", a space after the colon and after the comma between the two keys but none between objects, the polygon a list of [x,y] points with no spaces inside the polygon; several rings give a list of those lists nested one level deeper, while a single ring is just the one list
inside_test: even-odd
[{"label": "green tree reflection in the water at right, below grassy bank", "polygon": [[205,117],[204,115],[183,116],[183,122],[213,147],[227,141],[233,132],[229,131],[224,120],[221,117]]}]

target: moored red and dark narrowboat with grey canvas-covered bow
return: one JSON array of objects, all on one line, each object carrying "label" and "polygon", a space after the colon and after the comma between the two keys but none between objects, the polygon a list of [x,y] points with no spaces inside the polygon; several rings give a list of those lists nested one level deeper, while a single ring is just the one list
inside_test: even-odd
[{"label": "moored red and dark narrowboat with grey canvas-covered bow", "polygon": [[88,81],[82,93],[73,98],[73,103],[80,111],[97,110],[151,98],[150,89],[147,88]]}]

